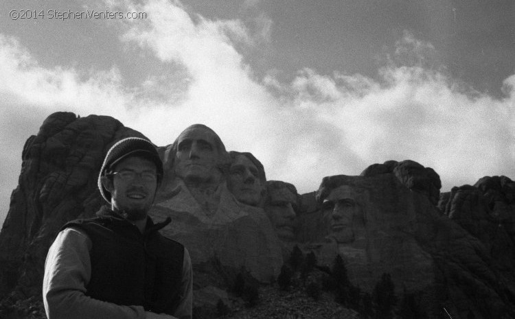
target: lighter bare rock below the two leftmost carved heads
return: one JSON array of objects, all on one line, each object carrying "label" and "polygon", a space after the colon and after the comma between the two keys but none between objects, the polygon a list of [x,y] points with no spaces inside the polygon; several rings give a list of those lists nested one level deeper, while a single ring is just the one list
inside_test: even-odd
[{"label": "lighter bare rock below the two leftmost carved heads", "polygon": [[242,268],[264,283],[277,277],[281,248],[263,209],[236,202],[227,187],[220,185],[218,208],[209,214],[181,181],[176,187],[176,195],[155,204],[149,214],[156,220],[172,218],[163,234],[187,247],[194,270],[196,265],[216,258],[233,277]]}]

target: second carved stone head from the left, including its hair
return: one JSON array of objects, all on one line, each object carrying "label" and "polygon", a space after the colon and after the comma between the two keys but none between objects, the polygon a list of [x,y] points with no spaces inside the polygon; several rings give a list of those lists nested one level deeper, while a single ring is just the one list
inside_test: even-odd
[{"label": "second carved stone head from the left, including its hair", "polygon": [[229,156],[233,160],[227,178],[229,191],[238,202],[260,206],[266,183],[263,165],[251,153],[231,151]]}]

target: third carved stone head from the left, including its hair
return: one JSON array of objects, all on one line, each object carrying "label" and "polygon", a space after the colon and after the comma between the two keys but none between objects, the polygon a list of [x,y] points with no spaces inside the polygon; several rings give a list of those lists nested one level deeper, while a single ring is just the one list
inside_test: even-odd
[{"label": "third carved stone head from the left, including its hair", "polygon": [[266,192],[264,211],[271,220],[277,236],[284,241],[295,240],[297,189],[288,182],[268,180]]}]

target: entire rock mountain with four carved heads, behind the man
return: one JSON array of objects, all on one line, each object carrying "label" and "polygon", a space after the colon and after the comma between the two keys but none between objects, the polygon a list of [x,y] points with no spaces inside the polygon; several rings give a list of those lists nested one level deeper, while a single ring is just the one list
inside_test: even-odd
[{"label": "entire rock mountain with four carved heads, behind the man", "polygon": [[[0,233],[0,317],[2,307],[41,298],[49,245],[65,222],[104,204],[98,170],[108,148],[129,136],[143,137],[111,117],[54,113],[27,139]],[[362,291],[391,274],[399,291],[419,296],[428,318],[447,318],[444,308],[453,318],[515,318],[510,178],[440,194],[433,169],[387,161],[360,176],[328,176],[299,195],[287,182],[266,182],[252,154],[227,152],[206,126],[190,126],[158,151],[165,177],[150,215],[172,217],[163,233],[190,250],[198,307],[226,302],[238,272],[276,279],[285,248],[296,244],[320,265],[341,255]]]}]

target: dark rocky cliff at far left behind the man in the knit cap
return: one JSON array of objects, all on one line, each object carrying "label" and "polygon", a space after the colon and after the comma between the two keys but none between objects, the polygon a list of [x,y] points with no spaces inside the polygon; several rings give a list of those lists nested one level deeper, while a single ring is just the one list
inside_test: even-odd
[{"label": "dark rocky cliff at far left behind the man in the knit cap", "polygon": [[58,229],[100,208],[103,156],[129,136],[143,137],[112,117],[54,113],[27,139],[19,185],[0,233],[0,297],[41,295],[45,257]]}]

